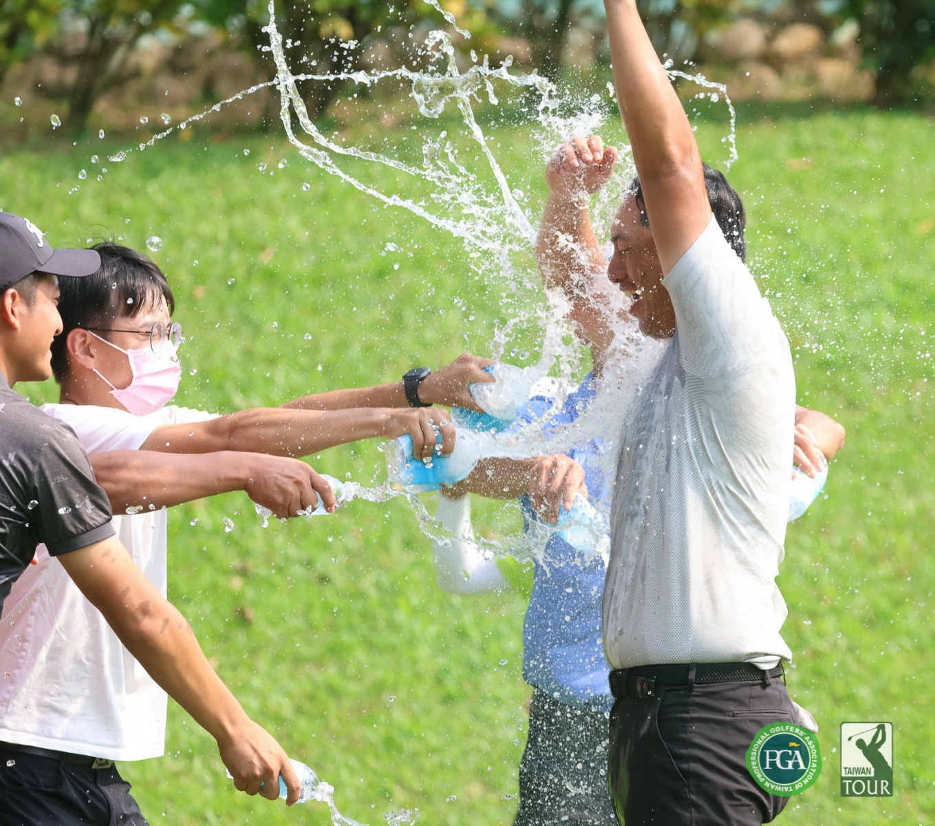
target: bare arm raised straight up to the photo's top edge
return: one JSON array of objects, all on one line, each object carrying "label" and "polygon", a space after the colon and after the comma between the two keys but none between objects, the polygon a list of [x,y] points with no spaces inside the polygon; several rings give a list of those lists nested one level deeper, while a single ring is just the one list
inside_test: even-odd
[{"label": "bare arm raised straight up to the photo's top edge", "polygon": [[711,220],[698,144],[659,63],[636,0],[604,0],[613,83],[633,148],[646,212],[668,273]]}]

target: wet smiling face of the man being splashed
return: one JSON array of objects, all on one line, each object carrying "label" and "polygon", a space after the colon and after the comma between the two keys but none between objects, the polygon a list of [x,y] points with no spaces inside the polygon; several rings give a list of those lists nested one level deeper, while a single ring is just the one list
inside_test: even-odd
[{"label": "wet smiling face of the man being splashed", "polygon": [[613,255],[607,268],[611,283],[633,299],[629,313],[640,332],[654,339],[675,334],[675,308],[662,285],[663,272],[653,233],[640,222],[636,198],[626,196],[611,225]]}]

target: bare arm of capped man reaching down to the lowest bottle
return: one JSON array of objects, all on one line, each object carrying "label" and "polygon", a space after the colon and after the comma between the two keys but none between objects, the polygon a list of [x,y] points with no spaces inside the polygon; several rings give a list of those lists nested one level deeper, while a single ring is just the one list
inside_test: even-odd
[{"label": "bare arm of capped man reaching down to the lowest bottle", "polygon": [[275,800],[281,775],[289,789],[287,803],[294,804],[298,778],[285,752],[247,717],[185,618],[152,586],[120,540],[111,537],[58,559],[127,650],[214,737],[237,789]]}]

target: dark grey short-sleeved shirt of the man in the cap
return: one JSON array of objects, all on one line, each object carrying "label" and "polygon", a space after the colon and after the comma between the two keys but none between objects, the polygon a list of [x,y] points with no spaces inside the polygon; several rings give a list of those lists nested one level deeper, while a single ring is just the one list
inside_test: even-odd
[{"label": "dark grey short-sleeved shirt of the man in the cap", "polygon": [[74,430],[0,373],[0,611],[45,543],[53,557],[114,535],[110,502]]}]

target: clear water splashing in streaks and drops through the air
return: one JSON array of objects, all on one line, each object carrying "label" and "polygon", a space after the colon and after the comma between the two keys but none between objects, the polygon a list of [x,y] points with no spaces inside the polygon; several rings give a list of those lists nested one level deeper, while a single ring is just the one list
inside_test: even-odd
[{"label": "clear water splashing in streaks and drops through the air", "polygon": [[[437,0],[427,2],[436,7],[459,35],[466,39],[470,37],[468,32],[457,26],[453,15],[438,5]],[[587,103],[574,107],[575,114],[562,114],[563,105],[568,101],[562,99],[552,81],[536,71],[528,74],[511,73],[511,58],[494,67],[490,65],[489,58],[484,56],[482,62],[475,59],[473,65],[461,72],[455,61],[451,36],[443,31],[433,31],[426,37],[421,47],[421,57],[427,65],[423,70],[401,67],[373,72],[293,74],[286,61],[271,0],[265,31],[269,36],[269,47],[265,47],[264,51],[271,53],[276,65],[274,80],[258,83],[234,94],[176,125],[170,126],[171,118],[164,114],[162,120],[168,128],[147,142],[140,143],[138,150],[142,152],[175,129],[196,123],[211,112],[249,94],[275,87],[280,95],[280,116],[286,137],[303,159],[375,198],[384,206],[408,210],[453,238],[460,239],[467,252],[468,268],[475,277],[496,284],[502,290],[506,320],[496,327],[493,341],[490,342],[497,359],[510,360],[507,356],[511,342],[516,339],[523,325],[537,326],[541,331],[541,341],[539,362],[535,369],[541,376],[557,374],[553,409],[560,410],[569,389],[577,384],[573,376],[582,371],[586,354],[575,343],[573,327],[568,319],[570,308],[567,299],[557,292],[543,291],[539,272],[531,265],[538,222],[528,206],[528,196],[511,183],[500,167],[495,146],[484,134],[475,116],[475,107],[483,105],[484,101],[491,107],[498,107],[501,97],[522,98],[525,104],[523,110],[530,113],[527,124],[538,150],[538,155],[536,152],[530,153],[530,165],[539,171],[556,146],[569,138],[592,134],[605,123],[608,115],[607,98],[593,94]],[[729,168],[737,158],[737,150],[735,112],[726,96],[726,88],[701,76],[690,76],[673,70],[670,64],[667,70],[670,77],[690,80],[713,90],[708,93],[712,102],[715,94],[718,97],[723,95],[731,119],[730,134],[726,138],[730,151],[726,166]],[[447,131],[442,131],[436,138],[424,138],[421,165],[338,142],[324,135],[311,121],[299,92],[299,84],[316,82],[343,82],[365,89],[378,83],[394,83],[408,89],[406,96],[423,118],[438,121],[446,109],[453,110],[460,119],[456,127],[459,131],[451,137]],[[460,143],[458,138],[461,138]],[[476,153],[476,163],[465,159],[463,149],[459,148],[465,141]],[[121,152],[122,158],[128,152],[133,150]],[[248,155],[249,150],[243,153]],[[384,191],[376,184],[371,185],[355,177],[341,166],[345,159],[392,170],[397,181],[396,191]],[[593,205],[592,214],[601,217],[606,223],[604,227],[597,227],[598,231],[608,228],[610,216],[623,200],[633,172],[629,149],[624,147],[613,179],[596,197]],[[303,191],[308,189],[308,185],[302,186]],[[418,195],[407,195],[407,189],[416,191]],[[147,247],[153,252],[161,246],[162,241],[156,236],[147,240]],[[581,250],[578,252],[583,254]],[[622,412],[640,392],[640,384],[661,355],[665,342],[648,340],[640,335],[635,323],[626,315],[626,298],[618,291],[611,290],[609,283],[595,289],[600,294],[598,300],[607,308],[616,334],[607,354],[602,387],[597,398],[572,425],[552,427],[548,440],[542,436],[544,420],[535,421],[511,434],[509,442],[500,442],[496,455],[539,456],[562,453],[568,452],[576,444],[601,439],[606,450],[598,457],[598,464],[605,478],[612,479]],[[526,354],[523,355],[525,357]],[[360,499],[379,503],[403,497],[425,536],[442,544],[457,539],[451,530],[429,514],[423,500],[406,490],[397,489],[389,483],[375,486],[354,482],[342,484],[348,491],[345,501]],[[271,512],[261,506],[257,506],[256,510],[266,526]],[[504,521],[509,522],[519,508],[515,502],[508,501],[503,503],[501,510]],[[601,515],[606,518],[608,514],[605,512]],[[225,531],[234,529],[229,518],[225,517],[223,522]],[[477,537],[474,542],[485,558],[535,558],[547,567],[545,545],[557,529],[545,523],[532,522],[525,533],[506,529],[498,531],[496,535]],[[595,544],[597,546],[597,541]],[[328,805],[335,826],[361,826],[341,815],[334,804],[334,789],[330,785],[322,782],[319,789],[323,796],[318,797],[316,794],[316,799]],[[389,823],[401,824],[410,822],[414,817],[412,813],[402,811],[391,813],[385,819]]]}]

